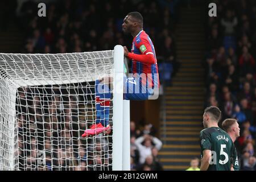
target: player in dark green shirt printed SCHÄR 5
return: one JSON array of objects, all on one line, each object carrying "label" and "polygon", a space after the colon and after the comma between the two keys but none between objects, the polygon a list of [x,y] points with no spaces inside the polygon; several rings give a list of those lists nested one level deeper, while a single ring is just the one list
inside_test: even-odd
[{"label": "player in dark green shirt printed SCH\u00c4R 5", "polygon": [[218,127],[221,111],[216,106],[204,110],[203,124],[200,132],[201,171],[230,171],[237,159],[236,148],[228,133]]}]

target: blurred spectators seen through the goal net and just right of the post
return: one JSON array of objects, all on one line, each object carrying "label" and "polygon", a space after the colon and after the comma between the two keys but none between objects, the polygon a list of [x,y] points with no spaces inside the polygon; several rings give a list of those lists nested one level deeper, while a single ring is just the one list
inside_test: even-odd
[{"label": "blurred spectators seen through the goal net and just right of the post", "polygon": [[[111,170],[112,134],[80,137],[95,120],[93,108],[93,83],[86,88],[72,84],[19,88],[16,168]],[[158,159],[162,142],[155,137],[155,127],[131,121],[130,128],[131,170],[163,170]]]}]

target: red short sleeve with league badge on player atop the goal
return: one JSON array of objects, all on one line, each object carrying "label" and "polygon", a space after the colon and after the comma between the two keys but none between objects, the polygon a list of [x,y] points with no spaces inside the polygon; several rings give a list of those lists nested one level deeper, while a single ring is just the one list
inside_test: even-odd
[{"label": "red short sleeve with league badge on player atop the goal", "polygon": [[139,36],[135,39],[135,46],[143,55],[154,55],[149,40],[144,36]]}]

